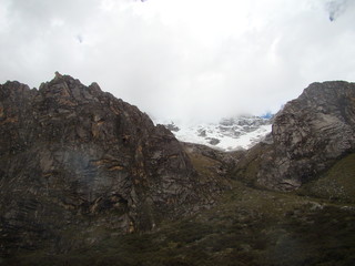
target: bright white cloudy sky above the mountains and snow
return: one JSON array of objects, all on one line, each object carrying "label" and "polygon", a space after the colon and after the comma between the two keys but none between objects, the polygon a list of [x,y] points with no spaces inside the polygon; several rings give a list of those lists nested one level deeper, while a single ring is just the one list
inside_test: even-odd
[{"label": "bright white cloudy sky above the mountains and snow", "polygon": [[276,112],[355,81],[355,0],[0,0],[0,83],[54,71],[155,119]]}]

